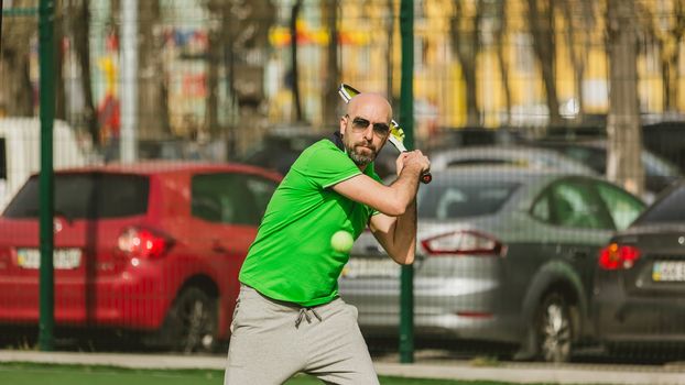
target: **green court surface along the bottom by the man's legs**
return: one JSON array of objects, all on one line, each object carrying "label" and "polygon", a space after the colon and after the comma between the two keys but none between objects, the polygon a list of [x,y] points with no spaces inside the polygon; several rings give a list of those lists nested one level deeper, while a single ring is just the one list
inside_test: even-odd
[{"label": "green court surface along the bottom by the man's legs", "polygon": [[[2,385],[221,385],[224,372],[210,370],[164,371],[133,370],[111,366],[52,365],[35,363],[0,363]],[[380,377],[385,385],[503,385],[496,382],[464,382]],[[298,375],[286,385],[323,384]]]}]

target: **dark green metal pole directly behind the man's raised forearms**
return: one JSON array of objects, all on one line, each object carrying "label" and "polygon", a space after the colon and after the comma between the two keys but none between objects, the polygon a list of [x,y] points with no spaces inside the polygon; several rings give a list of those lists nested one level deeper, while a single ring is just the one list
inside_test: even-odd
[{"label": "dark green metal pole directly behind the man's raised forearms", "polygon": [[[402,80],[400,121],[404,128],[407,148],[414,147],[414,2],[400,4],[402,36]],[[400,276],[400,362],[414,362],[414,266],[403,265]]]}]

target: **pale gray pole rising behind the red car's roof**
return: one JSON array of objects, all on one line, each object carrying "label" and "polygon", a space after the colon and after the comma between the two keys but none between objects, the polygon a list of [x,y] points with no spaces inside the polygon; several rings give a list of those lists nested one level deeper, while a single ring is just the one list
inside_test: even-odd
[{"label": "pale gray pole rising behind the red car's roof", "polygon": [[138,1],[121,1],[121,132],[119,151],[122,163],[138,158]]}]

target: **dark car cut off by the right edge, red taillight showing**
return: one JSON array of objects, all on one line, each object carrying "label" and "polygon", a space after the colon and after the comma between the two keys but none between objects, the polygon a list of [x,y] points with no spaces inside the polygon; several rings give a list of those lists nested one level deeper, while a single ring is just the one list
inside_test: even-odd
[{"label": "dark car cut off by the right edge, red taillight showing", "polygon": [[681,180],[601,251],[594,301],[598,336],[609,348],[685,345],[684,298]]}]

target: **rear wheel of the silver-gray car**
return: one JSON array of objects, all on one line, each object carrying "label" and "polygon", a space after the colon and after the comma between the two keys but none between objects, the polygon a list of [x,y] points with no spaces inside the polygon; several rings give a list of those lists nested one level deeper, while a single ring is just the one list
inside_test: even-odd
[{"label": "rear wheel of the silver-gray car", "polygon": [[573,324],[566,298],[559,293],[547,294],[535,317],[537,354],[545,362],[570,360]]}]

